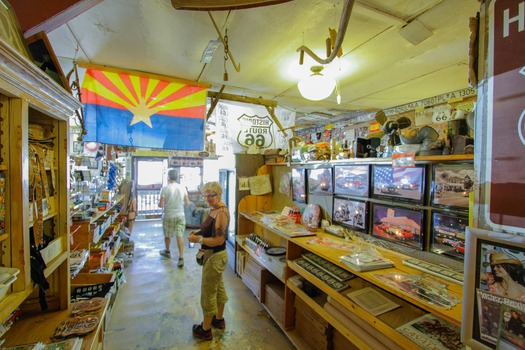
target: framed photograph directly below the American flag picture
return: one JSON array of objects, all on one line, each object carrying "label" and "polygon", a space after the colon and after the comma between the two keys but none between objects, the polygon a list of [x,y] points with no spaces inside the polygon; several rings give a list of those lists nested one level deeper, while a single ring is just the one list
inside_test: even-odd
[{"label": "framed photograph directly below the American flag picture", "polygon": [[423,210],[372,205],[372,236],[423,250],[425,214]]}]

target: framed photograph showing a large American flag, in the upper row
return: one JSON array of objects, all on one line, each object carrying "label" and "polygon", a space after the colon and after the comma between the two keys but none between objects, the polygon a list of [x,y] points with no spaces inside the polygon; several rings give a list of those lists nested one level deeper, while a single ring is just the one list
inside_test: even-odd
[{"label": "framed photograph showing a large American flag, in the upper row", "polygon": [[372,165],[372,197],[423,204],[425,199],[425,165],[394,168]]}]

